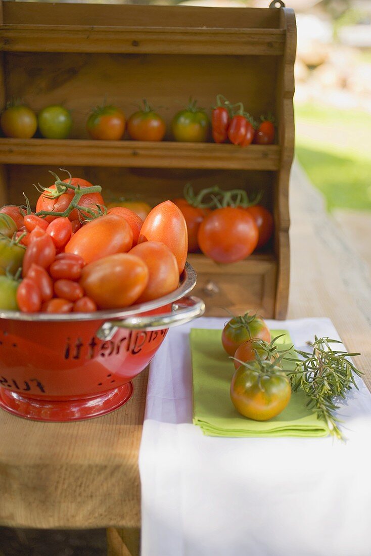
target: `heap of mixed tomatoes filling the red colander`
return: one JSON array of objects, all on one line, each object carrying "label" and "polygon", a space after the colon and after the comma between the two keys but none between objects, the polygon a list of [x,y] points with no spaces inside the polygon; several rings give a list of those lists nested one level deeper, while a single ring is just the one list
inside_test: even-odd
[{"label": "heap of mixed tomatoes filling the red colander", "polygon": [[100,186],[55,177],[35,212],[28,200],[0,209],[0,309],[119,309],[177,288],[187,229],[174,203],[160,203],[143,221],[126,207],[107,210]]}]

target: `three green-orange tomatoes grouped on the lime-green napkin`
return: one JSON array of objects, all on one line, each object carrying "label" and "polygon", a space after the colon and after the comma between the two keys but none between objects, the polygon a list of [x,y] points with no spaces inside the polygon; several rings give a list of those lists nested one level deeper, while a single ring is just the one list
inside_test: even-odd
[{"label": "three green-orange tomatoes grouped on the lime-green napkin", "polygon": [[281,413],[291,398],[291,385],[270,331],[259,316],[248,313],[230,319],[222,331],[222,346],[233,358],[230,396],[241,415],[266,421]]}]

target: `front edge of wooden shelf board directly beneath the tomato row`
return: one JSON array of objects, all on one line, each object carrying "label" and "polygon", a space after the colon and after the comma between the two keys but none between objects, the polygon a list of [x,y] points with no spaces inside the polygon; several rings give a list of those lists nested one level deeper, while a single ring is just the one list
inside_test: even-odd
[{"label": "front edge of wooden shelf board directly beneath the tomato row", "polygon": [[278,145],[0,138],[0,163],[279,170]]}]

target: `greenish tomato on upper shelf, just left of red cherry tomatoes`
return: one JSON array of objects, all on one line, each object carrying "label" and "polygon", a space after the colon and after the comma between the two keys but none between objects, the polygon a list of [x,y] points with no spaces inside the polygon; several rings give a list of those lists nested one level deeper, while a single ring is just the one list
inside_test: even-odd
[{"label": "greenish tomato on upper shelf, just left of red cherry tomatoes", "polygon": [[197,108],[196,101],[191,101],[186,110],[174,116],[171,129],[175,141],[204,142],[209,133],[209,118],[204,110]]}]

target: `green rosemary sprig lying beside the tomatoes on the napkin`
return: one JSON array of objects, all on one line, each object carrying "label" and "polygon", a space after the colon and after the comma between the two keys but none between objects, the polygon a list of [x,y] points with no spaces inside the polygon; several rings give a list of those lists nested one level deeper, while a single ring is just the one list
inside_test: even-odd
[{"label": "green rosemary sprig lying beside the tomatoes on the napkin", "polygon": [[308,408],[314,409],[318,418],[327,423],[330,434],[344,440],[339,429],[341,421],[335,416],[335,411],[339,409],[337,398],[345,399],[353,386],[358,390],[354,376],[361,376],[363,373],[348,359],[360,355],[359,353],[337,351],[331,346],[341,343],[328,337],[314,336],[314,342],[309,344],[313,348],[312,353],[295,350],[303,359],[287,358],[296,363],[295,369],[287,374],[293,392],[304,390],[309,398],[306,404]]}]

